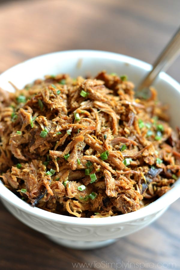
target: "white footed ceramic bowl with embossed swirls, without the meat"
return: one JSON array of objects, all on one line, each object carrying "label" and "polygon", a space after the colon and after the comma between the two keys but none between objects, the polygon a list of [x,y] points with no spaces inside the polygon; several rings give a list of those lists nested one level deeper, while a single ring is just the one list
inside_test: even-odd
[{"label": "white footed ceramic bowl with embossed swirls, without the meat", "polygon": [[[112,52],[74,50],[54,52],[32,58],[0,75],[0,87],[13,91],[8,81],[22,88],[46,74],[69,73],[72,77],[96,75],[101,70],[128,75],[135,84],[152,68],[151,65]],[[170,105],[171,126],[179,125],[180,85],[166,73],[154,84],[159,99]],[[180,179],[161,198],[138,211],[113,217],[77,218],[33,208],[19,199],[0,182],[0,196],[6,208],[31,228],[46,234],[57,243],[71,248],[95,248],[143,228],[158,218],[180,196]],[[115,239],[115,240],[114,240]]]}]

